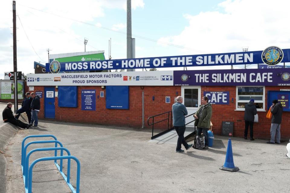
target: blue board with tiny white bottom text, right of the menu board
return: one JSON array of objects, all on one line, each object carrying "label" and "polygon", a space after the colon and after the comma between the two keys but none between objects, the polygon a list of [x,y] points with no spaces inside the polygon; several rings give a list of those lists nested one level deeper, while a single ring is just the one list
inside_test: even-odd
[{"label": "blue board with tiny white bottom text, right of the menu board", "polygon": [[107,109],[129,109],[129,86],[106,86]]}]

